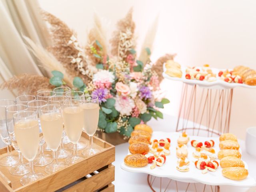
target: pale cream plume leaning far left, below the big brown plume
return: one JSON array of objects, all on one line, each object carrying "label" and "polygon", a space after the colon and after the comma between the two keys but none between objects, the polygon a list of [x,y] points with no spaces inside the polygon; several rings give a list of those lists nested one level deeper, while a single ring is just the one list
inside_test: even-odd
[{"label": "pale cream plume leaning far left, below the big brown plume", "polygon": [[52,70],[60,71],[64,74],[64,81],[70,87],[72,87],[72,79],[75,74],[70,74],[72,71],[68,71],[64,66],[47,50],[45,50],[41,45],[35,44],[30,38],[23,36],[24,40],[28,43],[30,47],[28,49],[36,56],[42,66],[51,72]]}]

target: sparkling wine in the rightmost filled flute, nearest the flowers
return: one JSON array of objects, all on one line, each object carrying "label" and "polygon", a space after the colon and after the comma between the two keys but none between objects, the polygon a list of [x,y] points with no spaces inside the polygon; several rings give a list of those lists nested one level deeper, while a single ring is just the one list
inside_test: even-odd
[{"label": "sparkling wine in the rightmost filled flute, nearest the flowers", "polygon": [[98,103],[84,103],[84,130],[89,136],[93,136],[98,127],[99,105]]}]

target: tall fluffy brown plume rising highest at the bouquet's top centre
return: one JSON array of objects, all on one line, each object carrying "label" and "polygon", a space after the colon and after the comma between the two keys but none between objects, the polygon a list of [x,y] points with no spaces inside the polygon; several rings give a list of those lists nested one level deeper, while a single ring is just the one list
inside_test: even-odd
[{"label": "tall fluffy brown plume rising highest at the bouquet's top centre", "polygon": [[111,54],[118,56],[119,60],[124,59],[130,49],[135,48],[134,30],[135,23],[132,20],[133,9],[130,8],[126,17],[119,20],[117,29],[113,32],[110,44],[112,46]]}]

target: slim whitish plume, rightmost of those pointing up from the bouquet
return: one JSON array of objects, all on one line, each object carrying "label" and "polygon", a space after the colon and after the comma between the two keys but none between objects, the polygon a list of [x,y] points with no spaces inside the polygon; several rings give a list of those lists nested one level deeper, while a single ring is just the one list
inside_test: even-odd
[{"label": "slim whitish plume, rightmost of those pointing up from the bouquet", "polygon": [[145,40],[142,44],[139,60],[142,61],[143,63],[146,63],[146,61],[150,58],[150,55],[148,55],[146,48],[149,48],[149,50],[152,53],[157,26],[158,26],[158,16],[154,20],[152,26],[150,26],[150,28],[148,29],[148,32],[145,36]]}]

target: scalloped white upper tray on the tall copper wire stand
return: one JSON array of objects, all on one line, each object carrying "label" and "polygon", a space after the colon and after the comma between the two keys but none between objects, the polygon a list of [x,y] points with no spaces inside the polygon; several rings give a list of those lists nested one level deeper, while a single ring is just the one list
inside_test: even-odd
[{"label": "scalloped white upper tray on the tall copper wire stand", "polygon": [[[198,67],[198,68],[201,69],[200,67]],[[228,83],[228,82],[221,80],[220,77],[218,76],[218,73],[220,72],[220,70],[224,71],[226,69],[211,68],[212,72],[214,74],[216,74],[216,77],[217,77],[217,80],[213,81],[213,82],[186,79],[185,78],[185,76],[186,76],[186,67],[185,66],[181,66],[181,71],[182,71],[181,78],[168,76],[165,73],[165,71],[166,71],[165,64],[163,65],[163,69],[164,69],[164,72],[162,75],[166,79],[181,81],[181,82],[184,82],[184,83],[190,84],[190,85],[196,84],[196,85],[204,87],[204,88],[211,88],[211,89],[230,89],[230,88],[235,88],[235,87],[256,88],[256,86],[250,86],[250,85],[241,84],[241,83]]]}]

